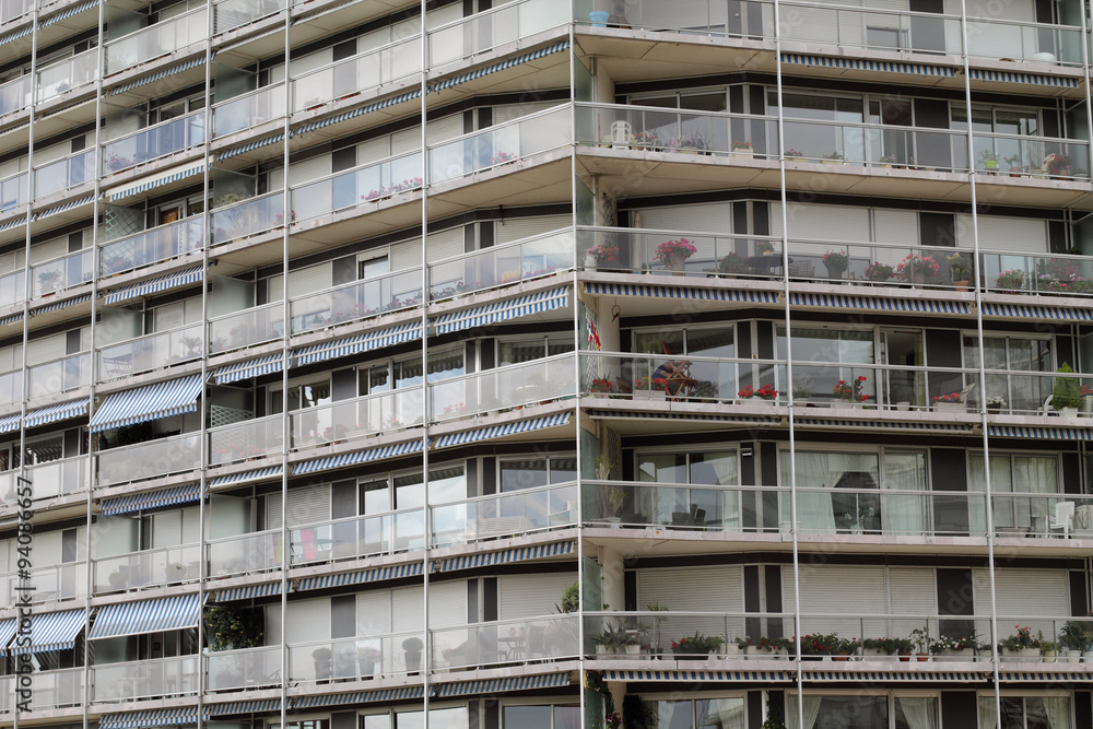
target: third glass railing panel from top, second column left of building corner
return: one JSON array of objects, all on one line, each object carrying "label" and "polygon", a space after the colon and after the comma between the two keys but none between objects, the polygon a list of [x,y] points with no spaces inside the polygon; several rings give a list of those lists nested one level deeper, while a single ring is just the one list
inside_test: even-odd
[{"label": "third glass railing panel from top, second column left of building corner", "polygon": [[421,303],[421,267],[292,299],[292,333],[367,319]]}]

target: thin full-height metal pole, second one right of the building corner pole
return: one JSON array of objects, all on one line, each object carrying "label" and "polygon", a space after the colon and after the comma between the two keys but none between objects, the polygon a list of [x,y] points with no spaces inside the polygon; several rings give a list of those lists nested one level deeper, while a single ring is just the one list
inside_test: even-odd
[{"label": "thin full-height metal pole, second one right of the building corner pole", "polygon": [[[967,57],[967,3],[966,0],[961,0],[960,3],[960,14],[961,14],[961,40],[964,47],[961,48],[961,60],[964,63],[964,104],[966,107],[966,119],[967,119],[967,166],[968,166],[968,180],[971,184],[972,192],[972,256],[975,261],[975,266],[979,264],[979,213],[977,210],[977,198],[976,198],[976,181],[975,181],[975,133],[972,131],[972,78]],[[1086,93],[1089,93],[1086,89]],[[974,270],[974,267],[973,267]],[[980,275],[982,275],[980,266]],[[995,519],[992,512],[992,501],[990,493],[990,446],[989,438],[987,437],[987,374],[986,364],[983,357],[983,290],[978,285],[978,280],[975,285],[975,329],[976,338],[979,348],[979,428],[983,431],[983,478],[984,485],[986,489],[987,499],[985,512],[987,514],[987,569],[989,572],[990,579],[990,645],[994,646],[995,660],[992,663],[995,671],[995,721],[998,727],[1001,727],[1002,720],[1002,699],[999,693],[999,656],[998,656],[998,601],[995,596]],[[940,631],[940,625],[939,628]]]}]

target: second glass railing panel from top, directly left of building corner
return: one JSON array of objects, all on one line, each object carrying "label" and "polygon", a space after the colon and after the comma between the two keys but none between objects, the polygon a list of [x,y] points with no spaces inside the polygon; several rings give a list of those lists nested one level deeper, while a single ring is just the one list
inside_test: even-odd
[{"label": "second glass railing panel from top, directly left of building corner", "polygon": [[566,104],[437,144],[428,150],[430,183],[457,179],[565,146],[573,141],[569,127]]}]

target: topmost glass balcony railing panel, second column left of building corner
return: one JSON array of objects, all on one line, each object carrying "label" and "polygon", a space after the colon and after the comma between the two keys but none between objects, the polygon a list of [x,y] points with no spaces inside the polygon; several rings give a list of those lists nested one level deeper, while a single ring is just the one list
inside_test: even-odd
[{"label": "topmost glass balcony railing panel, second column left of building corner", "polygon": [[334,61],[292,80],[292,110],[363,94],[421,71],[421,36]]}]

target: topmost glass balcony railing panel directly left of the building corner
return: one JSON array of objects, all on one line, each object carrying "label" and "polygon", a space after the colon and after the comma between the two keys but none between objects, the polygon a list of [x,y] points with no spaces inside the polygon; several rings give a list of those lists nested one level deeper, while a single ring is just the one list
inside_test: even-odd
[{"label": "topmost glass balcony railing panel directly left of the building corner", "polygon": [[554,0],[520,0],[484,10],[428,32],[431,66],[469,58],[569,22],[569,5]]}]

